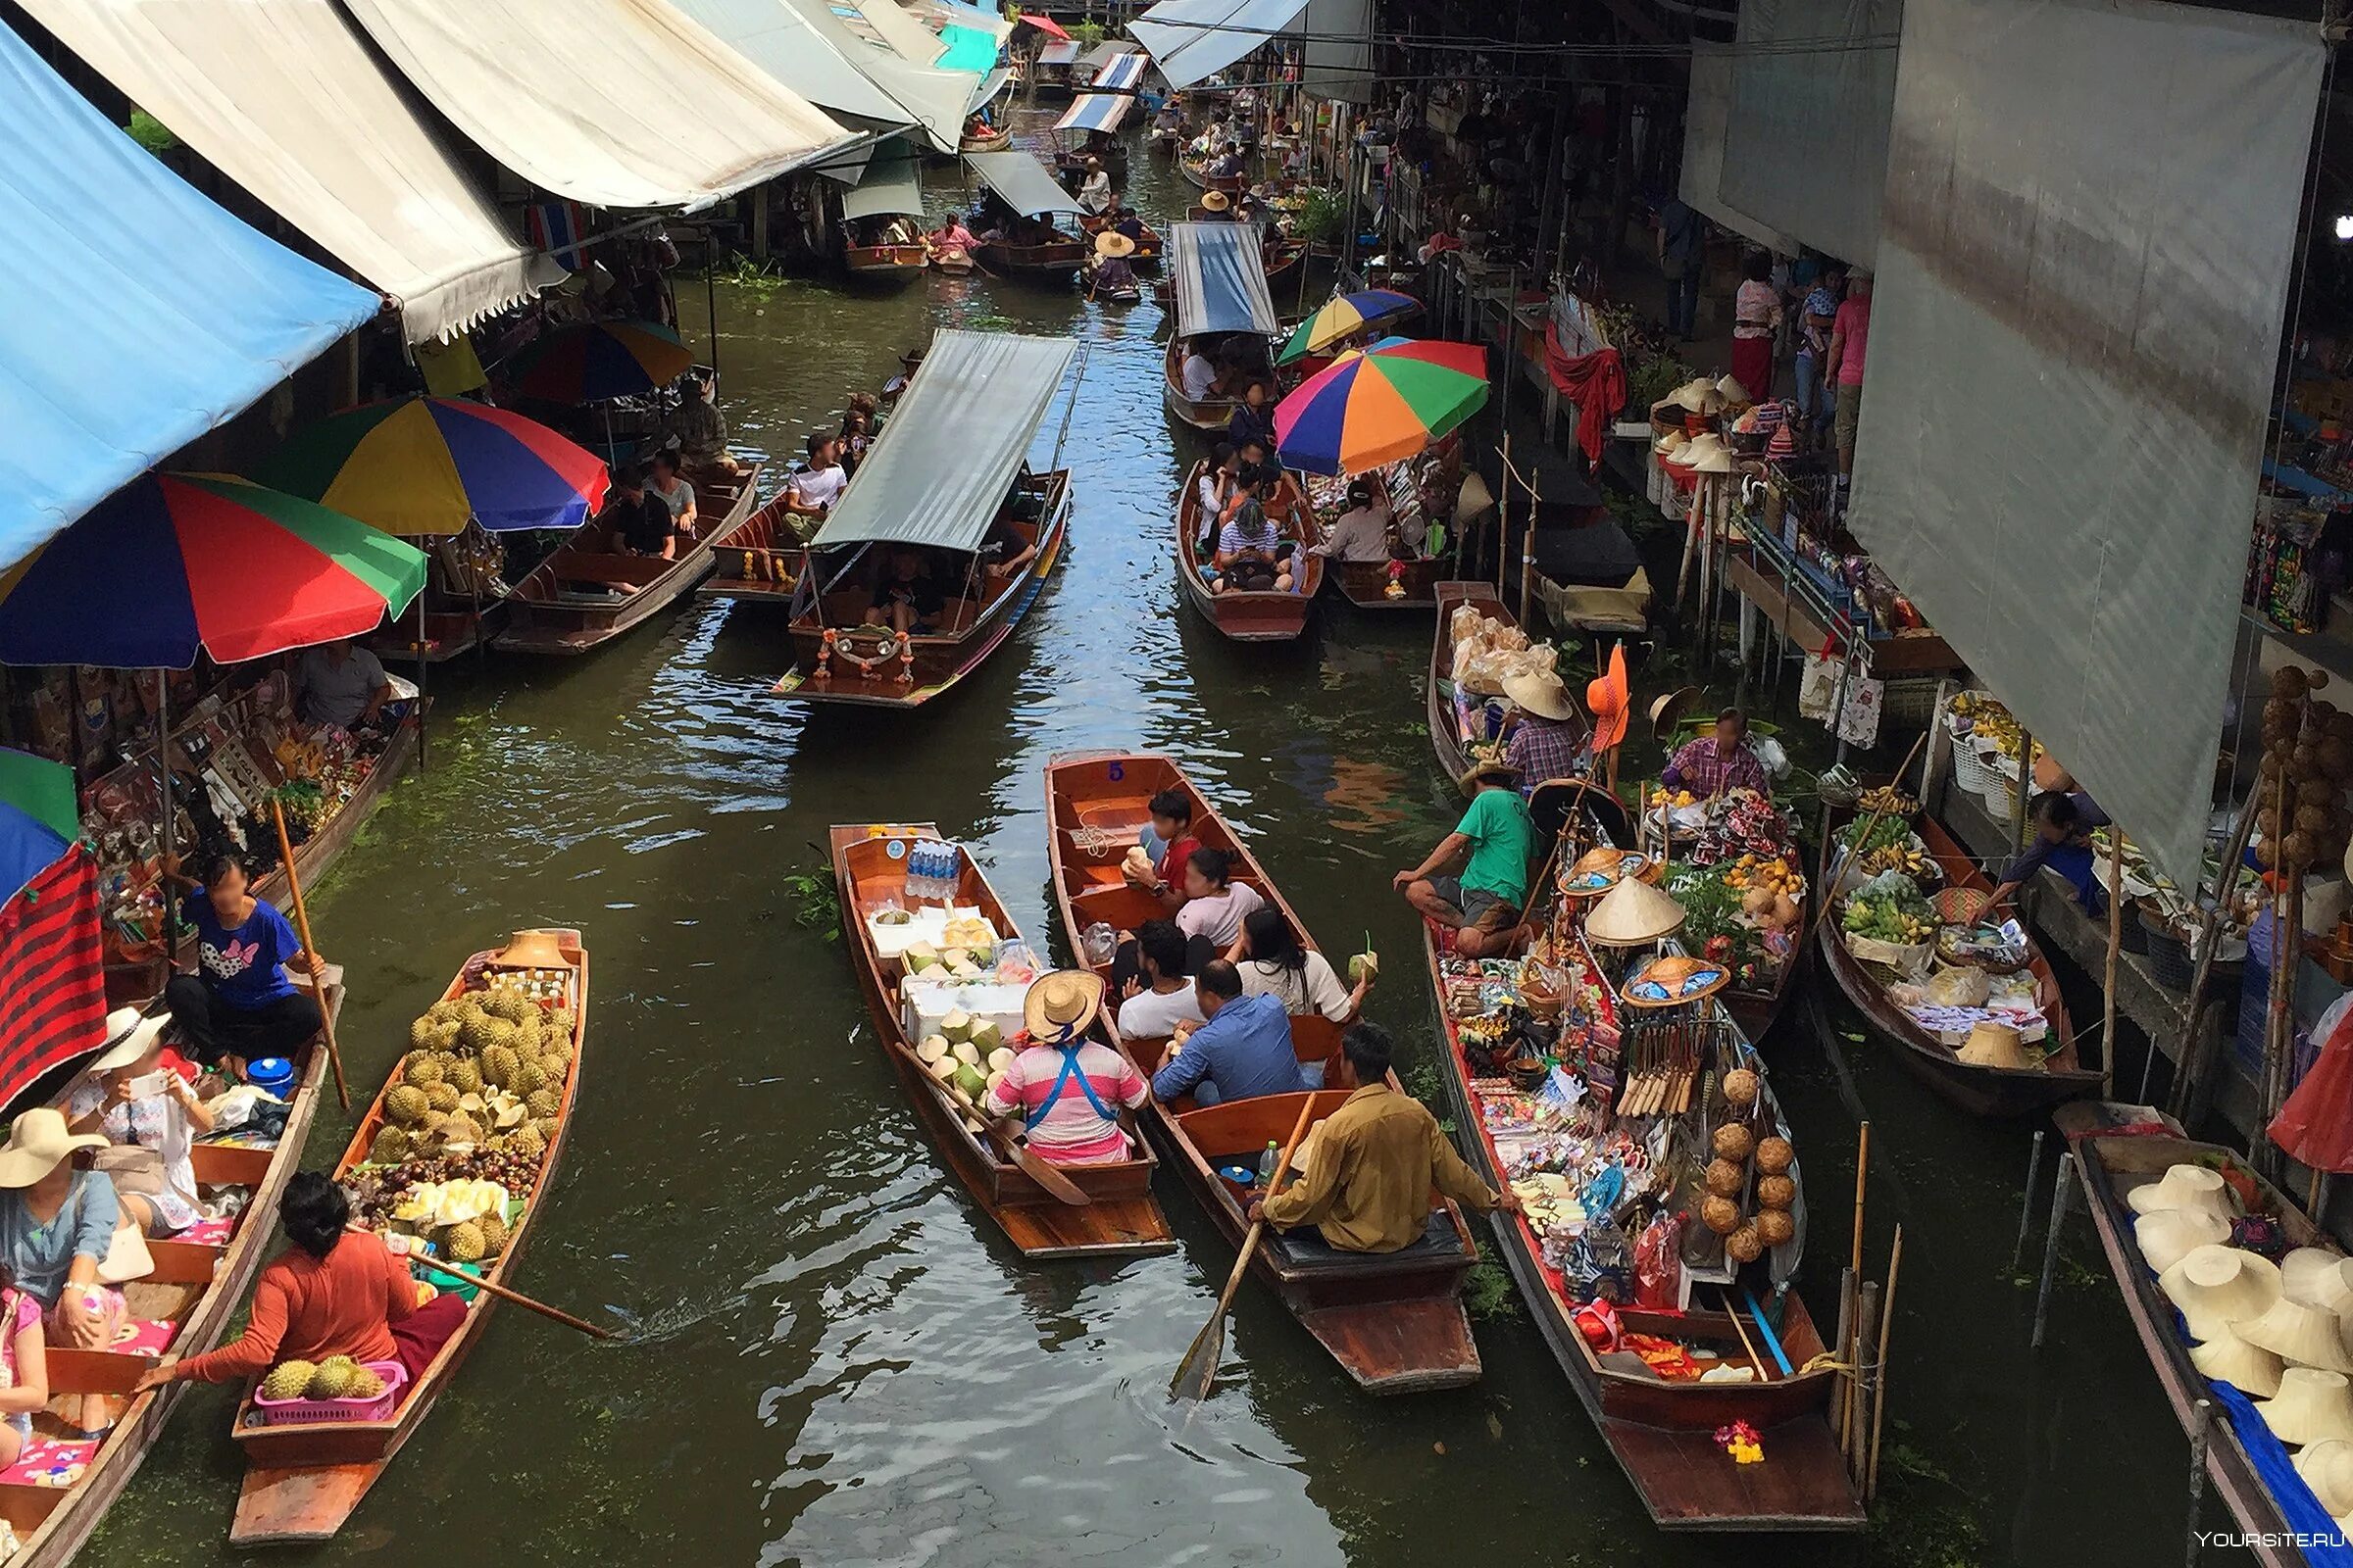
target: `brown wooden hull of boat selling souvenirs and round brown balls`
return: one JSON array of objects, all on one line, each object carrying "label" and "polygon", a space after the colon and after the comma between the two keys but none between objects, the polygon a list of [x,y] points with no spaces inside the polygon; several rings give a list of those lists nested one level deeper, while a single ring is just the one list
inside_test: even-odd
[{"label": "brown wooden hull of boat selling souvenirs and round brown balls", "polygon": [[[1424,922],[1424,959],[1435,997],[1440,980],[1438,929]],[[1713,1018],[1729,1025],[1720,1009]],[[1445,1084],[1459,1143],[1471,1166],[1489,1182],[1506,1180],[1494,1138],[1487,1131],[1473,1079],[1482,1063],[1464,1048],[1464,1037],[1438,1006],[1440,1048],[1438,1077]],[[1744,1058],[1746,1060],[1746,1058]],[[1772,1093],[1769,1086],[1765,1091]],[[1779,1112],[1774,1112],[1779,1119]],[[1544,1262],[1544,1244],[1527,1215],[1489,1215],[1504,1251],[1504,1262],[1520,1286],[1520,1300],[1534,1316],[1553,1359],[1567,1373],[1569,1387],[1593,1418],[1593,1427],[1617,1455],[1626,1479],[1649,1519],[1661,1530],[1861,1530],[1864,1505],[1847,1479],[1847,1462],[1828,1420],[1838,1373],[1809,1368],[1824,1354],[1821,1331],[1807,1316],[1805,1300],[1788,1291],[1779,1340],[1793,1375],[1767,1373],[1748,1382],[1666,1380],[1649,1371],[1631,1371],[1612,1356],[1605,1363],[1577,1328],[1562,1276]],[[1802,1220],[1800,1220],[1802,1237]],[[1711,1312],[1694,1295],[1689,1312],[1652,1312],[1619,1307],[1619,1324],[1633,1333],[1699,1345],[1718,1366],[1762,1366],[1741,1345],[1741,1328],[1727,1312]],[[1748,1328],[1755,1338],[1755,1328]],[[1694,1356],[1697,1361],[1699,1356]],[[1640,1366],[1640,1361],[1633,1361]],[[1762,1434],[1767,1460],[1734,1465],[1715,1443],[1715,1429],[1744,1420]]]}]

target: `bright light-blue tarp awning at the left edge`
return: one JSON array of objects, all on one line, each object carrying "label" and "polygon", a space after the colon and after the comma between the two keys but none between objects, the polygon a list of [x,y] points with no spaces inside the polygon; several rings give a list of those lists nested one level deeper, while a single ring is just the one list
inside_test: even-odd
[{"label": "bright light-blue tarp awning at the left edge", "polygon": [[379,299],[205,200],[0,26],[0,567]]}]

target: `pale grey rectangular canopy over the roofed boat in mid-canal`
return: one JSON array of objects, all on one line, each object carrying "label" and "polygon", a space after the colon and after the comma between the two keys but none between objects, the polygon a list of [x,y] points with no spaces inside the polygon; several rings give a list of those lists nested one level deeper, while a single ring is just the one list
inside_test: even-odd
[{"label": "pale grey rectangular canopy over the roofed boat in mid-canal", "polygon": [[1071,339],[939,331],[812,548],[976,550],[1075,350]]}]

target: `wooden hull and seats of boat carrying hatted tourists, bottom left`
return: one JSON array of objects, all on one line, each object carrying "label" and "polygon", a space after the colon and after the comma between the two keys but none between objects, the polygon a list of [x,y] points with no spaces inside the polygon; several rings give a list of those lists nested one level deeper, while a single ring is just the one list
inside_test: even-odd
[{"label": "wooden hull and seats of boat carrying hatted tourists, bottom left", "polygon": [[[341,1016],[344,987],[327,987],[327,1011]],[[318,1114],[320,1077],[327,1051],[313,1039],[294,1063],[294,1088],[287,1095],[287,1124],[275,1147],[198,1143],[191,1150],[200,1197],[245,1190],[245,1208],[235,1229],[221,1241],[151,1239],[155,1272],[122,1286],[132,1321],[169,1324],[165,1354],[195,1356],[214,1349],[235,1321],[245,1291],[261,1272],[271,1232],[278,1229],[278,1201],[287,1180],[301,1168],[304,1145]],[[80,1425],[85,1394],[108,1394],[113,1429],[87,1455],[87,1469],[68,1486],[49,1476],[0,1481],[0,1519],[16,1533],[19,1549],[9,1563],[21,1568],[61,1568],[82,1549],[89,1533],[115,1497],[146,1462],[162,1436],[165,1422],[188,1392],[186,1382],[167,1382],[146,1394],[129,1387],[148,1368],[148,1359],[129,1352],[94,1352],[47,1347],[49,1408],[33,1418],[40,1441],[71,1436]]]}]

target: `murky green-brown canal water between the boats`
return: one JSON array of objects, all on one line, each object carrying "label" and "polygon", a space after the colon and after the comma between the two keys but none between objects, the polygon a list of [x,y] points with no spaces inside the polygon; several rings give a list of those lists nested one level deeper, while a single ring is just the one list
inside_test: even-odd
[{"label": "murky green-brown canal water between the boats", "polygon": [[[955,174],[932,195],[960,200]],[[1186,188],[1139,148],[1136,197],[1165,221]],[[701,346],[701,289],[682,294]],[[826,827],[936,820],[1047,938],[1042,762],[1162,748],[1327,947],[1369,936],[1391,954],[1369,1016],[1419,1058],[1433,1001],[1391,875],[1459,802],[1424,733],[1426,621],[1325,609],[1299,646],[1245,649],[1181,604],[1162,541],[1193,447],[1160,409],[1155,306],[988,277],[889,296],[722,284],[734,435],[798,449],[951,324],[1087,346],[1061,454],[1071,550],[979,675],[918,715],[793,708],[769,696],[781,623],[720,602],[588,658],[438,672],[428,771],[311,898],[348,966],[358,1086],[471,950],[525,924],[586,931],[579,1126],[518,1284],[631,1338],[501,1309],[353,1528],[299,1561],[2179,1561],[2186,1443],[2089,1229],[2066,1239],[2031,1354],[2040,1227],[2012,1269],[2028,1133],[1946,1110],[1835,1009],[1817,1027],[1793,1006],[1767,1056],[1812,1180],[1817,1319],[1835,1316],[1861,1114],[1873,1276],[1904,1225],[1885,1523],[1864,1540],[1654,1530],[1508,1293],[1478,1321],[1475,1387],[1374,1401],[1245,1284],[1226,1378],[1184,1420],[1165,1387],[1233,1258],[1184,1192],[1162,1192],[1174,1255],[1009,1253],[873,1044],[831,926]],[[346,1135],[329,1105],[311,1164]],[[186,1399],[87,1561],[231,1556],[228,1415],[221,1389]]]}]

